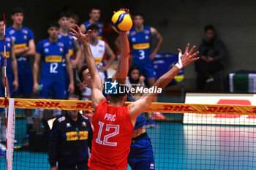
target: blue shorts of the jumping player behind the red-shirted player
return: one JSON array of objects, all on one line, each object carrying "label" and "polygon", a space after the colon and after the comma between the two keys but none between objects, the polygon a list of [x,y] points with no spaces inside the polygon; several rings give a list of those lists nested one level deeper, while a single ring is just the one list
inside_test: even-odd
[{"label": "blue shorts of the jumping player behind the red-shirted player", "polygon": [[132,141],[128,155],[132,170],[151,170],[154,168],[154,152],[148,136]]}]

